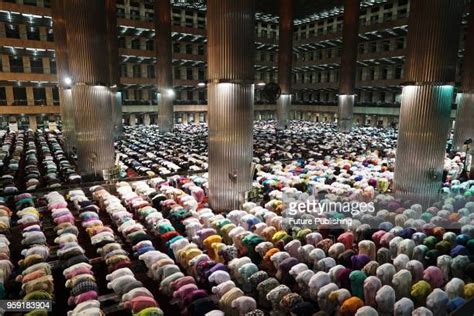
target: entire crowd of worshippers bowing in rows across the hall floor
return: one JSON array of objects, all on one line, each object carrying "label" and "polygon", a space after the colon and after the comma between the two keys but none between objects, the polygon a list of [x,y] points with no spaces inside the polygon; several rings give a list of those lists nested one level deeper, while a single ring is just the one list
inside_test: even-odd
[{"label": "entire crowd of worshippers bowing in rows across the hall floor", "polygon": [[258,122],[249,199],[217,213],[204,124],[126,127],[120,166],[146,179],[67,190],[60,183],[80,177],[59,133],[1,133],[3,191],[14,195],[0,198],[0,298],[51,300],[71,316],[472,313],[464,154],[446,155],[431,205],[402,201],[392,194],[396,138]]}]

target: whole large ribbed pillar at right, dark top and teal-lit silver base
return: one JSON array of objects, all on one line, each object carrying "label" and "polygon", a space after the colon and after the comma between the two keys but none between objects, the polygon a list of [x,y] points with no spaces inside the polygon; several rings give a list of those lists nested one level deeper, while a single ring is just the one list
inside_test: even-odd
[{"label": "whole large ribbed pillar at right, dark top and teal-lit silver base", "polygon": [[400,198],[427,204],[441,189],[463,4],[411,2],[394,178]]}]

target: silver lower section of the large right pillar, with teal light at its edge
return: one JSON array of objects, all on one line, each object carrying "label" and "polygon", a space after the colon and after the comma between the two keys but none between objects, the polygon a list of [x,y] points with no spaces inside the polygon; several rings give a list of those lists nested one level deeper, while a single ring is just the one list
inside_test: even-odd
[{"label": "silver lower section of the large right pillar, with teal light at its edge", "polygon": [[395,189],[429,202],[441,187],[453,87],[406,86],[402,93]]}]

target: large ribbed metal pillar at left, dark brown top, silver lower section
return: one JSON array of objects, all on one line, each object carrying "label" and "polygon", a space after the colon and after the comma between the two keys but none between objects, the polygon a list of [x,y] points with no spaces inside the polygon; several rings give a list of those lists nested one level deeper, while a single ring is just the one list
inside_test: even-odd
[{"label": "large ribbed metal pillar at left, dark brown top, silver lower section", "polygon": [[[64,0],[79,172],[98,178],[114,166],[106,0]],[[104,67],[105,65],[105,67]]]}]

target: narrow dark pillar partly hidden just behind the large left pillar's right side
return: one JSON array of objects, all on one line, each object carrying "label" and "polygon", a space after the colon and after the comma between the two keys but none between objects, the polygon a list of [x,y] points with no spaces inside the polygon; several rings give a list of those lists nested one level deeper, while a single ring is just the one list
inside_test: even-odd
[{"label": "narrow dark pillar partly hidden just behind the large left pillar's right side", "polygon": [[112,89],[112,120],[114,139],[122,135],[122,92],[120,85],[120,57],[117,40],[117,0],[106,0],[107,48],[109,55],[109,77]]}]

